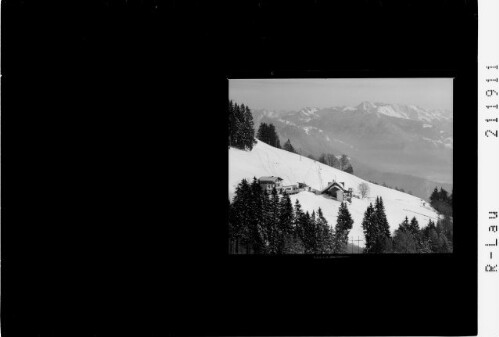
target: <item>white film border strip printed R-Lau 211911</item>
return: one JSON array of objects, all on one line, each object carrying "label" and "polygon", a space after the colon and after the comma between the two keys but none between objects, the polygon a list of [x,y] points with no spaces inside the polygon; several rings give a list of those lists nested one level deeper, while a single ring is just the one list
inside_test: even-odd
[{"label": "white film border strip printed R-Lau 211911", "polygon": [[478,336],[499,336],[499,1],[478,1]]}]

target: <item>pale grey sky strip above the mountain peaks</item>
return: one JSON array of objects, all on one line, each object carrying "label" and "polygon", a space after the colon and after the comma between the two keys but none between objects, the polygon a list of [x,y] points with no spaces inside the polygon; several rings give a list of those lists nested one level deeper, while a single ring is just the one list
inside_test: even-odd
[{"label": "pale grey sky strip above the mountain peaks", "polygon": [[370,101],[452,111],[452,84],[452,78],[229,79],[229,98],[268,110]]}]

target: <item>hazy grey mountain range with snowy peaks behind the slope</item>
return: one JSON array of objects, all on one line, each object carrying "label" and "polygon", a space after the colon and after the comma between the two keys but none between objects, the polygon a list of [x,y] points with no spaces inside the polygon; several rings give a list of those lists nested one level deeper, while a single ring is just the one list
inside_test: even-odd
[{"label": "hazy grey mountain range with snowy peaks behind the slope", "polygon": [[452,189],[453,115],[415,105],[362,102],[357,106],[252,110],[256,128],[272,123],[281,143],[304,155],[347,154],[356,175],[428,198]]}]

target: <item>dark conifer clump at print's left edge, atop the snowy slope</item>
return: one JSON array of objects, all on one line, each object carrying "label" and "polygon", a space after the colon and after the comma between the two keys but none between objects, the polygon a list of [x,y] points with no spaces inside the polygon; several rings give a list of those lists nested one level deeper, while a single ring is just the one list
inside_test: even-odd
[{"label": "dark conifer clump at print's left edge, atop the snowy slope", "polygon": [[251,150],[255,142],[255,129],[251,110],[244,104],[229,101],[228,106],[229,147]]}]

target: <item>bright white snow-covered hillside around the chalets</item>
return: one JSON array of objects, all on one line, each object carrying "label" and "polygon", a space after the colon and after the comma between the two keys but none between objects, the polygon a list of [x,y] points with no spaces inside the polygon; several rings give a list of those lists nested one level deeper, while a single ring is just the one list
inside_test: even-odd
[{"label": "bright white snow-covered hillside around the chalets", "polygon": [[[435,210],[418,197],[369,183],[352,174],[307,157],[274,148],[263,142],[258,141],[252,151],[229,149],[229,198],[231,200],[237,184],[242,179],[245,178],[251,182],[253,177],[259,178],[261,176],[281,177],[284,185],[304,182],[317,190],[326,187],[328,182],[335,180],[344,182],[347,189],[351,187],[354,194],[358,194],[360,183],[367,183],[369,185],[368,197],[365,199],[352,198],[352,203],[348,203],[348,209],[354,220],[353,228],[350,231],[350,240],[352,238],[364,240],[362,218],[369,203],[374,204],[376,196],[383,198],[392,233],[406,216],[409,219],[415,216],[420,227],[426,226],[429,219],[434,221],[438,219]],[[294,194],[291,199],[293,203],[298,199],[303,209],[310,213],[320,207],[328,223],[332,226],[336,224],[340,206],[338,201],[311,192]],[[364,246],[363,242],[360,242],[359,245]]]}]

